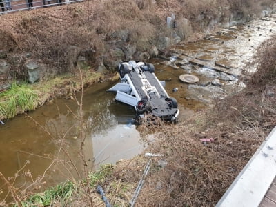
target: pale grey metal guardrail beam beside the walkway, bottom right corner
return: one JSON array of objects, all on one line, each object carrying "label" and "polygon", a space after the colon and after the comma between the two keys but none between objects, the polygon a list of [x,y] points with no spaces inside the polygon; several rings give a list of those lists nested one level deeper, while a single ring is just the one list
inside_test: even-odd
[{"label": "pale grey metal guardrail beam beside the walkway, bottom right corner", "polygon": [[276,176],[276,126],[216,207],[258,207]]}]

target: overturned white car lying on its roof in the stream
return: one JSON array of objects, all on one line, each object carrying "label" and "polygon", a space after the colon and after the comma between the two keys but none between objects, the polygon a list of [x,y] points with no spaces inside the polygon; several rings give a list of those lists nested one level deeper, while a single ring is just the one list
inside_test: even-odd
[{"label": "overturned white car lying on its roof in the stream", "polygon": [[117,92],[115,100],[133,106],[137,115],[149,113],[163,120],[175,121],[179,115],[177,101],[164,89],[165,81],[155,76],[150,63],[128,61],[119,65],[121,82],[108,91]]}]

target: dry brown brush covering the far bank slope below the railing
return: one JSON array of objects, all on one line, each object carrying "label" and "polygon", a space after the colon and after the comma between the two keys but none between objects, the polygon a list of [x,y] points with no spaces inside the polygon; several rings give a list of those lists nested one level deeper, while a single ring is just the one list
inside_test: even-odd
[{"label": "dry brown brush covering the far bank slope below the railing", "polygon": [[[89,56],[90,64],[101,61],[110,66],[110,61],[130,58],[133,51],[148,51],[157,45],[159,37],[170,37],[177,33],[182,39],[190,33],[183,18],[188,19],[193,30],[202,32],[212,19],[224,23],[230,21],[230,13],[259,13],[273,1],[262,0],[205,0],[205,1],[156,1],[106,0],[85,1],[43,10],[14,13],[2,16],[9,22],[0,28],[0,48],[11,55],[19,55],[20,61],[12,65],[12,74],[24,77],[22,52],[29,52],[34,59],[55,66],[54,73],[73,72],[76,53]],[[166,28],[166,16],[175,14],[179,26],[174,32]],[[126,57],[118,54],[123,48]],[[124,55],[123,55],[124,56]],[[8,57],[13,62],[12,57]],[[54,69],[53,69],[54,70]]]}]

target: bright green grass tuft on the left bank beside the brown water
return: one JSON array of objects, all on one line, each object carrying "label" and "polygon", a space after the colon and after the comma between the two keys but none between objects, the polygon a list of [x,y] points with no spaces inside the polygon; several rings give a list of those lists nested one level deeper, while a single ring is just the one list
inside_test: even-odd
[{"label": "bright green grass tuft on the left bank beside the brown water", "polygon": [[27,84],[12,83],[9,90],[0,94],[0,117],[12,118],[19,112],[34,110],[39,102],[37,92]]}]

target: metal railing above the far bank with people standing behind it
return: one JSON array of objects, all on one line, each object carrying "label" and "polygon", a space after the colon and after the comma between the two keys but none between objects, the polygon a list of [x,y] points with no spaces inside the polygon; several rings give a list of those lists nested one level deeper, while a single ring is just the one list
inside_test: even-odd
[{"label": "metal railing above the far bank with people standing behind it", "polygon": [[0,0],[0,15],[21,10],[32,10],[48,6],[59,6],[63,4],[80,2],[83,0]]}]

